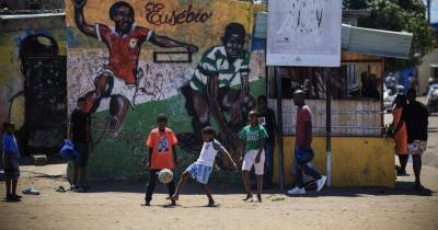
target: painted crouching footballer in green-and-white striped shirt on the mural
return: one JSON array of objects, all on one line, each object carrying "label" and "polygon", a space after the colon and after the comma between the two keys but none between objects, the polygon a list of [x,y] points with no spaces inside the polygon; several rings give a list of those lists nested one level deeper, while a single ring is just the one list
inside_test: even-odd
[{"label": "painted crouching footballer in green-and-white striped shirt on the mural", "polygon": [[238,147],[237,133],[246,123],[246,113],[255,107],[250,95],[245,37],[242,24],[228,24],[221,37],[223,44],[204,53],[189,83],[182,88],[195,135],[210,125],[212,116],[220,138],[234,147]]}]

